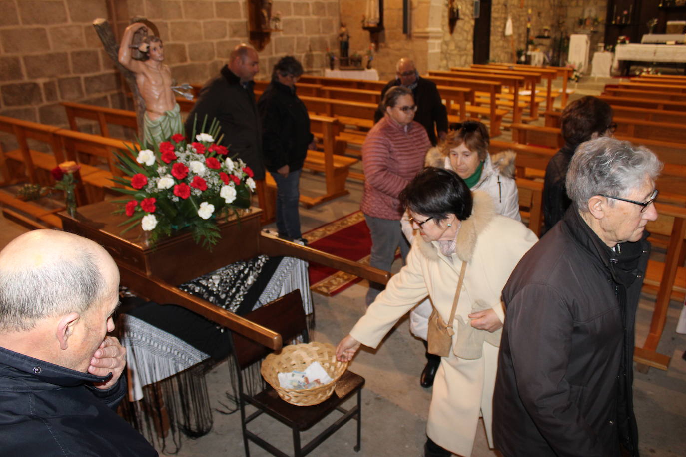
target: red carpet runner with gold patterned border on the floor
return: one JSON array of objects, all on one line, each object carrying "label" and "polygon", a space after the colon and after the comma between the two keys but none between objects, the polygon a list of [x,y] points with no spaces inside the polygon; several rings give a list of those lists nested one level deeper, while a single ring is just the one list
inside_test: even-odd
[{"label": "red carpet runner with gold patterned border on the floor", "polygon": [[[362,211],[348,214],[303,234],[309,247],[369,264],[372,240]],[[361,278],[320,264],[309,264],[309,284],[311,291],[333,297],[339,292],[359,282]]]}]

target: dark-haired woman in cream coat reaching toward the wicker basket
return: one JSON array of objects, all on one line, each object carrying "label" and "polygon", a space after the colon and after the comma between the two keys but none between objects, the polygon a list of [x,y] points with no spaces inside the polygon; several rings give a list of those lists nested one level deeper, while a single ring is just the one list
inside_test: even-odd
[{"label": "dark-haired woman in cream coat reaching toward the wicker basket", "polygon": [[488,193],[471,193],[451,170],[427,167],[400,199],[418,230],[407,264],[338,343],[336,357],[351,360],[361,344],[377,347],[403,314],[428,295],[438,318],[455,334],[434,382],[425,456],[469,456],[480,414],[493,445],[491,400],[504,321],[500,293],[536,236],[522,223],[496,214]]}]

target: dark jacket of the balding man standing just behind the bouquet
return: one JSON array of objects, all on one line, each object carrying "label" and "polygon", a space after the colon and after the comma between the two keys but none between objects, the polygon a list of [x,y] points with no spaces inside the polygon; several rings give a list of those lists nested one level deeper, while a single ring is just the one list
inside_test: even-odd
[{"label": "dark jacket of the balding man standing just behind the bouquet", "polygon": [[[194,122],[196,134],[200,133],[205,116],[205,132],[212,120],[217,119],[222,127],[220,134],[224,135],[221,144],[228,147],[228,155],[233,157],[238,154],[255,172],[255,179],[263,180],[262,129],[255,92],[252,92],[253,84],[251,81],[244,87],[240,78],[225,65],[219,76],[200,89],[198,101],[186,119],[186,134],[190,138]],[[194,138],[191,140],[195,141]]]}]

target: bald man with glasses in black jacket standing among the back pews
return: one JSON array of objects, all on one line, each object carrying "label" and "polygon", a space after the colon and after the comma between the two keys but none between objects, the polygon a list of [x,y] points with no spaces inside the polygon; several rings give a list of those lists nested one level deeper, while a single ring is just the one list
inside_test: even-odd
[{"label": "bald man with glasses in black jacket standing among the back pews", "polygon": [[[412,90],[414,103],[417,106],[414,120],[424,126],[431,145],[436,146],[437,141],[445,138],[448,132],[448,112],[440,99],[436,84],[420,77],[414,62],[410,59],[399,60],[396,70],[397,78],[388,82],[381,90],[381,100],[388,89],[395,86],[404,86]],[[379,122],[383,114],[383,110],[377,110],[374,114],[374,122]],[[438,138],[436,132],[438,132]]]}]

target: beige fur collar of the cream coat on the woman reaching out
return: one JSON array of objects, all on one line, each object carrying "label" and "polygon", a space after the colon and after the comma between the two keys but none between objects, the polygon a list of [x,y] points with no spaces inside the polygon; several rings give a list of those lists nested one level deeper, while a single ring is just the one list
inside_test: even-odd
[{"label": "beige fur collar of the cream coat on the woman reaching out", "polygon": [[[474,199],[472,214],[468,219],[462,221],[455,245],[455,254],[463,262],[471,262],[479,234],[486,229],[495,216],[493,197],[484,190],[474,190],[472,195]],[[440,259],[438,256],[438,242],[427,243],[421,236],[416,236],[415,238],[418,248],[427,259],[434,262]]]}]

